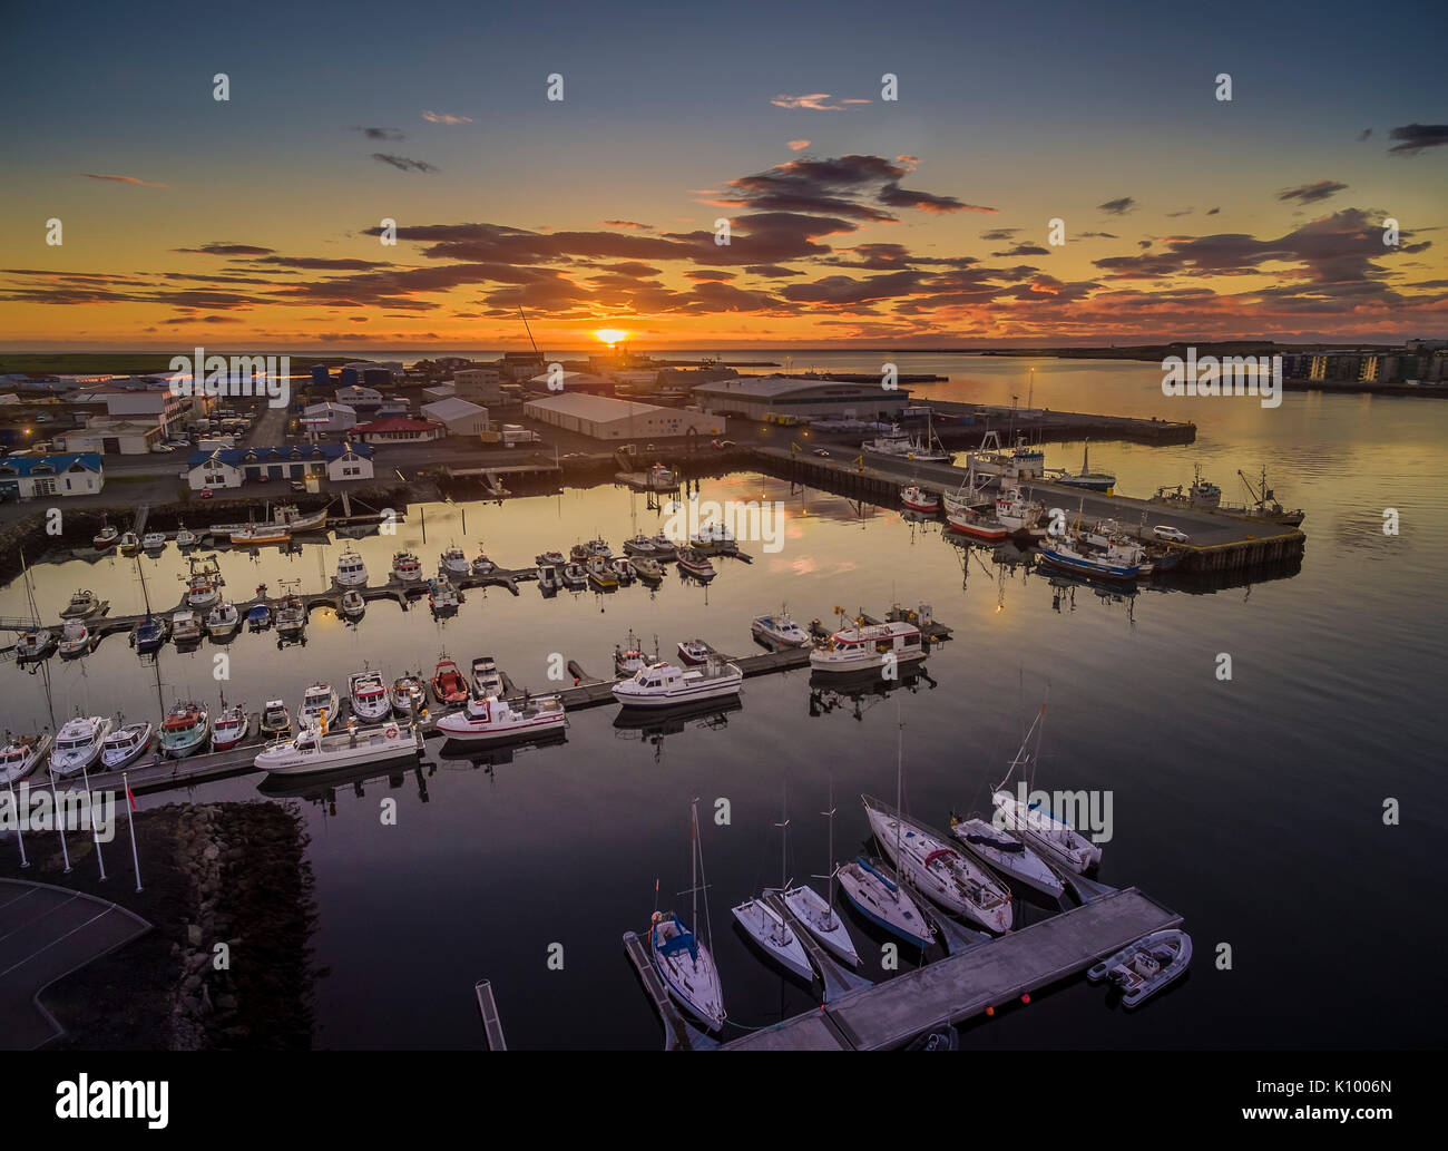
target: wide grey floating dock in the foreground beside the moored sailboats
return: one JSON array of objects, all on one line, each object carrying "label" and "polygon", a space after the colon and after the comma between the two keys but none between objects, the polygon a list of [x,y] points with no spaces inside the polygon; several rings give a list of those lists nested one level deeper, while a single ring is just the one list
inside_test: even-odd
[{"label": "wide grey floating dock in the foreground beside the moored sailboats", "polygon": [[1131,943],[1182,922],[1137,888],[1109,892],[957,956],[853,992],[724,1051],[882,1051],[959,1024],[1085,971]]}]

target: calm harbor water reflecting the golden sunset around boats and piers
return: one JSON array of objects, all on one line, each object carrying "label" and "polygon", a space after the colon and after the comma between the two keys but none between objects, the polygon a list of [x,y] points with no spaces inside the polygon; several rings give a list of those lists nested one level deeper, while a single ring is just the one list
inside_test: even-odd
[{"label": "calm harbor water reflecting the golden sunset around boats and piers", "polygon": [[[794,366],[808,366],[802,359]],[[876,369],[873,359],[808,356],[818,368],[857,371]],[[1019,394],[1024,404],[1030,387],[1027,361],[896,362],[902,372],[948,374],[951,382],[933,391],[950,398],[1009,402]],[[1283,502],[1308,510],[1300,573],[1213,594],[1061,595],[1041,575],[993,568],[989,553],[975,553],[963,569],[963,553],[938,527],[737,475],[705,481],[702,498],[782,501],[785,546],[779,555],[750,546],[753,565],[720,560],[707,589],[670,575],[656,594],[636,585],[544,601],[524,585],[518,598],[469,592],[445,623],[378,602],[358,627],[314,612],[306,647],[278,650],[265,636],[229,644],[229,698],[256,707],[281,695],[295,708],[313,679],[340,683],[365,662],[388,675],[430,670],[442,650],[459,663],[492,654],[536,689],[549,685],[552,653],[605,673],[630,628],[649,646],[657,636],[666,652],[701,636],[743,654],[752,650],[750,617],[782,601],[801,620],[828,620],[837,604],[880,614],[892,601],[927,602],[956,628],[927,665],[933,682],[888,698],[812,708],[807,673],[792,672],[747,680],[740,709],[665,734],[615,727],[615,709],[597,708],[572,717],[565,744],[491,770],[445,760],[339,788],[330,802],[304,801],[321,912],[317,960],[330,967],[317,985],[320,1042],[475,1048],[482,1038],[472,985],[489,977],[513,1047],[656,1047],[659,1026],[620,937],[646,927],[656,879],[660,906],[686,908],[672,893],[689,882],[692,796],[705,821],[710,912],[731,1019],[760,1026],[805,1011],[814,996],[767,967],[728,914],[779,880],[775,824],[786,788],[789,873],[802,879],[825,869],[818,812],[831,780],[840,859],[867,831],[859,793],[893,795],[898,722],[906,805],[943,825],[953,808],[989,802],[986,789],[1047,689],[1037,783],[1112,792],[1114,838],[1100,879],[1138,885],[1182,912],[1196,958],[1187,980],[1137,1013],[1108,1008],[1099,987],[1076,982],[970,1028],[970,1045],[1441,1041],[1442,980],[1420,961],[1445,943],[1431,903],[1441,872],[1431,828],[1448,815],[1432,702],[1442,691],[1448,615],[1448,404],[1289,394],[1280,408],[1263,410],[1253,400],[1166,400],[1151,365],[1035,366],[1038,407],[1197,423],[1190,446],[1093,444],[1092,463],[1115,471],[1127,494],[1189,482],[1200,463],[1237,499],[1237,469],[1255,478],[1267,465]],[[1048,463],[1077,466],[1080,449],[1048,444]],[[1383,536],[1387,507],[1402,515],[1397,537]],[[598,533],[617,547],[636,526],[656,530],[657,518],[641,497],[611,486],[501,507],[427,505],[411,510],[397,537],[363,540],[359,550],[374,576],[395,547],[417,550],[430,566],[450,541],[471,555],[481,540],[497,562],[524,566],[540,550],[566,550]],[[223,553],[222,568],[229,594],[245,599],[259,582],[274,592],[281,579],[321,586],[340,550]],[[175,549],[142,563],[153,602],[172,605],[182,570]],[[132,560],[41,565],[36,573],[42,612],[52,618],[80,585],[110,599],[113,612],[140,605]],[[0,615],[23,612],[19,583],[0,591]],[[52,659],[54,712],[155,718],[178,693],[214,701],[216,652],[167,649],[152,669],[111,637],[85,660]],[[1215,678],[1221,652],[1234,660],[1229,683]],[[42,676],[0,666],[0,679],[7,725],[46,721]],[[195,796],[256,798],[256,779],[207,785]],[[1402,804],[1400,827],[1383,825],[1389,796]],[[398,804],[395,827],[379,819],[384,798]],[[724,827],[711,818],[720,799],[731,811]],[[1041,915],[1022,902],[1027,918]],[[877,966],[879,938],[859,921],[851,931]],[[562,970],[549,969],[555,943]],[[1215,969],[1219,944],[1231,945],[1232,970]],[[1377,958],[1370,969],[1364,953]]]}]

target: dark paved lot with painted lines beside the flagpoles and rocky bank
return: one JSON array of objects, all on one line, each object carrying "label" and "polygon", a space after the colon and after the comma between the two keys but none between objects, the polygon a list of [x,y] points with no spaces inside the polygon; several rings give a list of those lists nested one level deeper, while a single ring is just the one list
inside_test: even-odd
[{"label": "dark paved lot with painted lines beside the flagpoles and rocky bank", "polygon": [[41,992],[149,929],[81,892],[0,879],[0,1050],[30,1051],[59,1035]]}]

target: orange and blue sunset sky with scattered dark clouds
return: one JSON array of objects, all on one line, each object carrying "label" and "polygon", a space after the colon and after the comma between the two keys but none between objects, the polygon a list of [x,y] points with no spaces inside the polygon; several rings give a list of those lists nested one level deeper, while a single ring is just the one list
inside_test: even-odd
[{"label": "orange and blue sunset sky with scattered dark clouds", "polygon": [[0,347],[1442,337],[1445,13],[12,4]]}]

